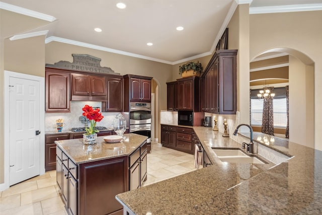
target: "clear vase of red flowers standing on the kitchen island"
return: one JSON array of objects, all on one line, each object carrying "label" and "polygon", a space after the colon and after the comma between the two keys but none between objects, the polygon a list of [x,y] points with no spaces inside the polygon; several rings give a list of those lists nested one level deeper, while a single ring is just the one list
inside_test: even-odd
[{"label": "clear vase of red flowers standing on the kitchen island", "polygon": [[85,127],[86,133],[83,134],[83,143],[84,145],[96,144],[97,133],[100,132],[95,128],[96,122],[100,122],[104,116],[102,116],[100,108],[94,109],[92,106],[85,105],[82,110],[84,111],[83,116],[90,120],[90,126]]}]

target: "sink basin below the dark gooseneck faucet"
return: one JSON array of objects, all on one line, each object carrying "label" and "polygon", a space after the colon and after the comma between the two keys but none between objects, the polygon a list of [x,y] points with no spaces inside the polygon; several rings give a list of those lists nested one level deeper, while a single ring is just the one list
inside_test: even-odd
[{"label": "sink basin below the dark gooseneck faucet", "polygon": [[266,164],[256,156],[249,156],[241,150],[230,149],[214,149],[214,153],[222,162],[228,163],[252,163],[252,164]]}]

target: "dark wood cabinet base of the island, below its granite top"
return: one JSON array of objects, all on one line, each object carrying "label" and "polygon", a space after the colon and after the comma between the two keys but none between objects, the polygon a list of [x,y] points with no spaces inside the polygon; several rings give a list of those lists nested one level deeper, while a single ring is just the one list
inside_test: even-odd
[{"label": "dark wood cabinet base of the island, below its granite top", "polygon": [[57,147],[56,177],[69,214],[123,214],[115,196],[142,186],[146,180],[146,141],[130,156],[78,165]]}]

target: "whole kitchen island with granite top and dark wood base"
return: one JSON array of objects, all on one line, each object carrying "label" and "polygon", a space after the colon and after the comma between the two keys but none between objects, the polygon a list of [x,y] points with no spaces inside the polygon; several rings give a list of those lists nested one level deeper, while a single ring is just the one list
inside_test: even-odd
[{"label": "whole kitchen island with granite top and dark wood base", "polygon": [[114,144],[103,136],[94,145],[82,138],[55,141],[57,186],[70,214],[122,214],[115,195],[146,180],[147,136],[124,137]]}]

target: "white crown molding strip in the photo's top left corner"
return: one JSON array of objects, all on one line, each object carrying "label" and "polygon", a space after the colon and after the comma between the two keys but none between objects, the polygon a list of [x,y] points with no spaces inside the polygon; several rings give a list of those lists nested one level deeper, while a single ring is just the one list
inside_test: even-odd
[{"label": "white crown molding strip in the photo's top left corner", "polygon": [[32,10],[28,10],[28,9],[21,8],[21,7],[18,7],[18,6],[10,5],[10,4],[3,3],[3,2],[0,2],[0,8],[4,9],[6,11],[15,12],[15,13],[18,13],[18,14],[34,17],[34,18],[37,18],[37,19],[46,20],[46,21],[49,21],[49,22],[53,22],[53,21],[56,20],[56,18],[53,17],[53,16],[43,14],[43,13],[39,13],[39,12],[32,11]]}]

